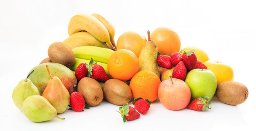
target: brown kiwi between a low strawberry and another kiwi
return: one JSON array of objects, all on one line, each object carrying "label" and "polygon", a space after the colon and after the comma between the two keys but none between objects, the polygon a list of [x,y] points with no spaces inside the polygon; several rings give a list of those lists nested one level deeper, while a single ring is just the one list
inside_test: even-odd
[{"label": "brown kiwi between a low strawberry and another kiwi", "polygon": [[98,81],[84,77],[77,85],[77,92],[83,95],[85,103],[94,107],[103,100],[103,92]]}]

